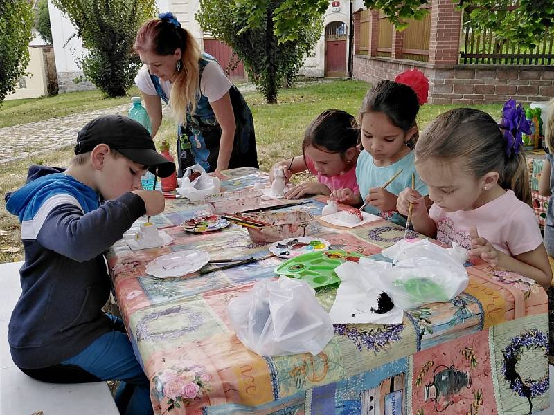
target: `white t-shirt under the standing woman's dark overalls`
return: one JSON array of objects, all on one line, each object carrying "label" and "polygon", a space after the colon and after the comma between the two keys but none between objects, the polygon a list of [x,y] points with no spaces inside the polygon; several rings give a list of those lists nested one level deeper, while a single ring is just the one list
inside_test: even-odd
[{"label": "white t-shirt under the standing woman's dark overalls", "polygon": [[[139,73],[136,74],[134,83],[146,95],[158,95],[156,88],[154,88],[154,84],[152,84],[146,65],[143,65]],[[162,91],[169,100],[171,82],[160,80],[160,85]],[[231,81],[225,76],[223,69],[217,62],[210,61],[206,64],[204,72],[202,73],[202,78],[200,79],[200,93],[208,98],[209,102],[214,102],[222,98],[232,85],[233,84],[231,84]]]}]

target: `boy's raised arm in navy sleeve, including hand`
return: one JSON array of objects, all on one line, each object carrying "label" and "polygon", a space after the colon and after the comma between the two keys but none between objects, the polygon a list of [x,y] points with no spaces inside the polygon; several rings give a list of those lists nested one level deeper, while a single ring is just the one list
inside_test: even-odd
[{"label": "boy's raised arm in navy sleeve, including hand", "polygon": [[70,196],[46,214],[37,231],[37,241],[44,248],[74,261],[89,261],[121,239],[140,216],[161,212],[164,203],[160,192],[136,190],[105,201],[98,209],[83,214]]}]

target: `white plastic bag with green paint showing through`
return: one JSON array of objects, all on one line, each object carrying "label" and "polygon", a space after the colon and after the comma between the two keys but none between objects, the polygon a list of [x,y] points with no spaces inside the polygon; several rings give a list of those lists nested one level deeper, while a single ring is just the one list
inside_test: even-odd
[{"label": "white plastic bag with green paint showing through", "polygon": [[[441,248],[428,239],[400,241],[383,250],[395,266],[374,268],[374,283],[404,310],[447,302],[460,294],[469,282],[459,252]],[[360,261],[364,264],[364,261]]]}]

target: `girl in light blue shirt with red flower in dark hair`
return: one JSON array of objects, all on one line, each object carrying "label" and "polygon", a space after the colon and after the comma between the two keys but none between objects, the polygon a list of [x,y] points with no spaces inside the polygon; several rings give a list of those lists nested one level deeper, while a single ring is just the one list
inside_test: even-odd
[{"label": "girl in light blue shirt with red flower in dark hair", "polygon": [[[355,206],[366,202],[366,212],[406,224],[406,218],[396,210],[396,201],[402,190],[411,187],[412,174],[415,190],[428,193],[415,172],[411,149],[418,136],[415,117],[420,105],[427,102],[428,91],[429,82],[417,69],[401,73],[395,81],[383,80],[368,91],[359,113],[364,148],[356,165],[359,192],[339,189],[332,192],[331,199]],[[390,185],[383,187],[400,171]]]}]

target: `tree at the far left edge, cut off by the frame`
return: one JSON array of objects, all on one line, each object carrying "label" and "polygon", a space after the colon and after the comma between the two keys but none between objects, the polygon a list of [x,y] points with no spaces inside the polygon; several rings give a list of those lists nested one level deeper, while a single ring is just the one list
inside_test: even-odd
[{"label": "tree at the far left edge, cut off by the frame", "polygon": [[0,106],[29,63],[33,11],[27,0],[0,0]]}]

